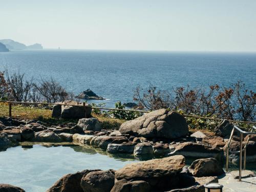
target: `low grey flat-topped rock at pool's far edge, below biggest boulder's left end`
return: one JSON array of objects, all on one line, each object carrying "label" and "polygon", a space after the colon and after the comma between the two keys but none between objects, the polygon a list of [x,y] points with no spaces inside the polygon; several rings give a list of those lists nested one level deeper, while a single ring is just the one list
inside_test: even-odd
[{"label": "low grey flat-topped rock at pool's far edge, below biggest boulder's left end", "polygon": [[106,152],[110,154],[117,154],[117,153],[129,153],[132,154],[134,151],[134,144],[132,142],[129,143],[110,143],[108,144],[108,148],[106,148]]}]

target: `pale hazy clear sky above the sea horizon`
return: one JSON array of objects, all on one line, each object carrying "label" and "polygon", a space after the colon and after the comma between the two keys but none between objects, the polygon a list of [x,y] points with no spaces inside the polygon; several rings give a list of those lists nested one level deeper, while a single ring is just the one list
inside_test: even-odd
[{"label": "pale hazy clear sky above the sea horizon", "polygon": [[45,48],[256,51],[255,0],[0,0],[0,24]]}]

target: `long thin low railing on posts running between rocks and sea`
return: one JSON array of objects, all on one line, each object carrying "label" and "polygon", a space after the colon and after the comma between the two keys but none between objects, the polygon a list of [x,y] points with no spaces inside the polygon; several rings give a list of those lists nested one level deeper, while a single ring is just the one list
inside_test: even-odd
[{"label": "long thin low railing on posts running between rocks and sea", "polygon": [[[65,103],[47,103],[47,102],[20,102],[20,101],[6,101],[6,100],[0,100],[0,102],[9,103],[9,117],[12,116],[12,103],[16,104],[37,104],[37,105],[66,105],[66,106],[83,106],[84,111],[86,112],[86,109],[98,109],[98,110],[110,110],[110,111],[127,111],[127,112],[138,112],[138,113],[150,113],[151,111],[142,111],[142,110],[132,110],[132,109],[116,109],[116,108],[102,108],[92,105],[86,105],[86,102],[77,102],[77,104],[65,104]],[[213,117],[202,117],[198,115],[186,115],[182,114],[184,117],[191,117],[196,119],[209,119],[209,120],[216,120],[216,121],[222,121],[223,119],[220,118],[213,118]],[[233,123],[248,123],[248,124],[256,124],[256,122],[252,121],[238,121],[238,120],[229,120]]]}]

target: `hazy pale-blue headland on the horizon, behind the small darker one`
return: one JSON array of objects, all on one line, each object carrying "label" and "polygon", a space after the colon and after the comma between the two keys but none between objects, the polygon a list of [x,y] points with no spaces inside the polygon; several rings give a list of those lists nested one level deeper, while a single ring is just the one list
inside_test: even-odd
[{"label": "hazy pale-blue headland on the horizon, behind the small darker one", "polygon": [[10,50],[22,50],[22,49],[42,49],[40,44],[34,44],[31,46],[26,46],[20,42],[14,41],[12,39],[2,39],[0,40],[2,44],[6,46],[7,49]]}]

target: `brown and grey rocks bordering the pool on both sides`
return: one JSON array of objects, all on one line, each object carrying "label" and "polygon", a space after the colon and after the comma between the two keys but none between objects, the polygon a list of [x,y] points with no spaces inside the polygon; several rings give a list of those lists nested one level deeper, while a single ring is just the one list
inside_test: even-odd
[{"label": "brown and grey rocks bordering the pool on both sides", "polygon": [[[164,109],[126,121],[119,130],[102,130],[96,118],[81,118],[77,124],[58,126],[0,118],[0,151],[20,141],[73,142],[99,147],[109,154],[153,159],[119,170],[83,170],[69,174],[48,191],[204,191],[202,184],[217,182],[214,176],[224,174],[221,167],[231,127],[232,124],[224,120],[216,127],[215,134],[190,133],[182,115]],[[238,138],[234,137],[230,150],[236,151],[238,147]],[[252,137],[247,145],[248,161],[256,161],[255,151],[256,139]],[[198,160],[186,167],[185,157]],[[232,162],[238,161],[238,155],[230,157]]]}]

